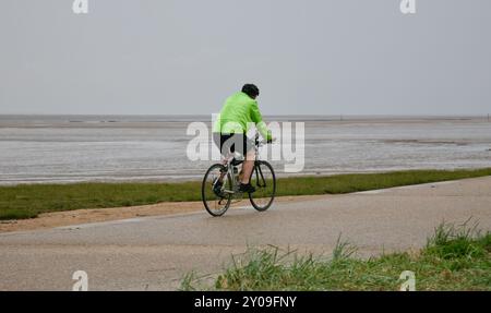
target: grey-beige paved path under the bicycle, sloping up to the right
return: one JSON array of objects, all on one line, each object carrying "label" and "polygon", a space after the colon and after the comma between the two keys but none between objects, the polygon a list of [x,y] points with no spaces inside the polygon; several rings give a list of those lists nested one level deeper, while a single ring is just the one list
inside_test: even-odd
[{"label": "grey-beige paved path under the bicycle, sloping up to the right", "polygon": [[[244,205],[247,202],[244,202]],[[217,273],[247,245],[330,253],[342,237],[360,255],[417,249],[442,220],[491,230],[491,177],[275,205],[145,217],[0,234],[0,290],[169,290],[184,273]]]}]

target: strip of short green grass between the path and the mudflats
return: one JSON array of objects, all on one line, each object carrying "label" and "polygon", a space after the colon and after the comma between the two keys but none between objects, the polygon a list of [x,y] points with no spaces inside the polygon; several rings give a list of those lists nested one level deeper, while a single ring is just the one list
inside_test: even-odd
[{"label": "strip of short green grass between the path and the mudflats", "polygon": [[[483,176],[491,176],[491,168],[284,178],[278,180],[277,195],[349,193]],[[77,208],[119,207],[200,200],[201,182],[197,181],[0,186],[0,219],[32,218],[41,213]]]}]

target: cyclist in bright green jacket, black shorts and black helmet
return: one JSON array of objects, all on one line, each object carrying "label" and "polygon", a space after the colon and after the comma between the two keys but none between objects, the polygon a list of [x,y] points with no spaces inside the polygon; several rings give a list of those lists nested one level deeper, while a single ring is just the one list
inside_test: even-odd
[{"label": "cyclist in bright green jacket, black shorts and black helmet", "polygon": [[[221,108],[217,120],[213,127],[213,141],[218,146],[221,155],[228,152],[238,152],[244,156],[241,169],[240,192],[253,193],[250,178],[254,168],[254,142],[246,135],[251,124],[255,124],[261,135],[271,143],[273,141],[271,131],[267,130],[255,98],[259,96],[259,88],[253,84],[246,84],[242,91],[228,97]],[[221,188],[223,177],[215,183],[215,193]]]}]

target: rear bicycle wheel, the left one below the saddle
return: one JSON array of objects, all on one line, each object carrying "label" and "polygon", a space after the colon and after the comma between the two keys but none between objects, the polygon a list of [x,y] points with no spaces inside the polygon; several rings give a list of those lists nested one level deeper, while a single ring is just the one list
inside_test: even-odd
[{"label": "rear bicycle wheel, the left one below the saddle", "polygon": [[[215,183],[221,178],[221,188],[215,189]],[[231,203],[232,180],[225,166],[213,165],[206,171],[201,185],[201,196],[206,210],[213,216],[224,215]]]}]

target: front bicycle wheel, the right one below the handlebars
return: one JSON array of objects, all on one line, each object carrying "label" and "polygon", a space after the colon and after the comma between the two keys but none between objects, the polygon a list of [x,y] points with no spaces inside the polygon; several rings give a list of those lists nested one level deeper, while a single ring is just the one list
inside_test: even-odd
[{"label": "front bicycle wheel, the right one below the handlebars", "polygon": [[261,212],[268,209],[276,194],[276,176],[271,164],[255,161],[251,184],[255,188],[255,192],[249,194],[252,206]]}]

